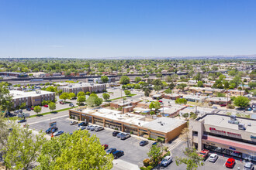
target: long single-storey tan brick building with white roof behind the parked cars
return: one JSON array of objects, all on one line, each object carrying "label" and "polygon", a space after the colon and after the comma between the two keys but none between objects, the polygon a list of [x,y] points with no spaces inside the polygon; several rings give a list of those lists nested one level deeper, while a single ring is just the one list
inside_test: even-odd
[{"label": "long single-storey tan brick building with white roof behind the parked cars", "polygon": [[103,127],[116,129],[145,138],[164,138],[165,142],[171,141],[181,134],[186,127],[186,121],[175,118],[159,117],[148,121],[146,117],[138,114],[122,114],[118,110],[100,109],[76,109],[69,110],[70,117],[98,124]]}]

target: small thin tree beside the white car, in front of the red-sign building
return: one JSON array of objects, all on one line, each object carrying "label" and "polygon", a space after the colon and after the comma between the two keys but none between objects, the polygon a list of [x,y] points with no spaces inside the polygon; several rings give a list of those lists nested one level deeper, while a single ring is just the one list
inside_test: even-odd
[{"label": "small thin tree beside the white car, in front of the red-sign building", "polygon": [[186,158],[176,158],[176,165],[185,164],[187,165],[187,170],[194,170],[198,168],[199,166],[203,166],[203,158],[198,155],[195,148],[185,148],[185,151],[183,151]]}]

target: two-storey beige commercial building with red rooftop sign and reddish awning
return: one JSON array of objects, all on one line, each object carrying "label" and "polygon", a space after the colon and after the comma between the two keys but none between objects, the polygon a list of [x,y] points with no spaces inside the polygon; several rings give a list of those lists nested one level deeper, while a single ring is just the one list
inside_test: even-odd
[{"label": "two-storey beige commercial building with red rooftop sign and reddish awning", "polygon": [[205,114],[189,121],[192,145],[256,162],[256,120]]}]

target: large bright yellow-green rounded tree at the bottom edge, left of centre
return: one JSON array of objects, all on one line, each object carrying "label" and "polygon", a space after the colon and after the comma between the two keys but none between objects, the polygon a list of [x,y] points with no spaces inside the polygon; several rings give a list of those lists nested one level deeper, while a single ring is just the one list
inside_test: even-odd
[{"label": "large bright yellow-green rounded tree at the bottom edge, left of centre", "polygon": [[43,144],[36,169],[111,169],[112,154],[107,155],[96,135],[88,131],[62,134]]}]

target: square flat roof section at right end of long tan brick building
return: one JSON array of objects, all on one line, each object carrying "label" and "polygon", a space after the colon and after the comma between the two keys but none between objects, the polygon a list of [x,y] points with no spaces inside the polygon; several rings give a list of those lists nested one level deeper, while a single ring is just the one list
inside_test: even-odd
[{"label": "square flat roof section at right end of long tan brick building", "polygon": [[182,121],[171,117],[159,117],[154,121],[150,121],[147,124],[142,125],[142,127],[168,133],[169,131],[173,131],[175,128],[178,128],[179,126],[185,123],[186,121]]}]

